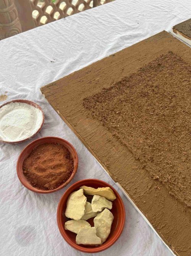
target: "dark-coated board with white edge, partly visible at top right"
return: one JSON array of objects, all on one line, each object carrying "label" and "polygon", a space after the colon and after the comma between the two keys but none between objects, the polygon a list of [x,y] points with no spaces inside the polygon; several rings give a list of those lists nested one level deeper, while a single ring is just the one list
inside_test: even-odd
[{"label": "dark-coated board with white edge, partly visible at top right", "polygon": [[191,46],[191,19],[173,26],[170,33]]}]

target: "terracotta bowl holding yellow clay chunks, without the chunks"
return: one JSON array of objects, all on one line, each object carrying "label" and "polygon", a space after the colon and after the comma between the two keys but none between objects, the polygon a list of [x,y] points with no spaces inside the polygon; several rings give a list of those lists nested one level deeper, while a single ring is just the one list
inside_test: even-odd
[{"label": "terracotta bowl holding yellow clay chunks, without the chunks", "polygon": [[[66,202],[68,200],[68,197],[72,192],[78,190],[83,185],[86,185],[88,187],[93,187],[93,188],[110,187],[112,188],[113,192],[117,197],[113,201],[112,210],[110,210],[114,216],[110,235],[108,236],[107,240],[100,246],[78,245],[76,244],[76,234],[72,233],[71,231],[65,230],[64,228],[65,222],[69,220],[65,216]],[[94,218],[87,220],[91,224],[91,226],[94,226],[93,220]],[[58,209],[57,209],[57,223],[58,223],[58,228],[60,230],[61,235],[63,236],[65,241],[68,244],[70,244],[74,249],[78,251],[82,251],[84,253],[98,253],[112,246],[120,237],[125,224],[125,207],[123,205],[123,201],[120,195],[118,194],[118,192],[108,183],[102,180],[96,180],[96,179],[80,180],[74,183],[73,185],[71,185],[63,194],[62,198],[60,199],[60,202],[58,204]]]}]

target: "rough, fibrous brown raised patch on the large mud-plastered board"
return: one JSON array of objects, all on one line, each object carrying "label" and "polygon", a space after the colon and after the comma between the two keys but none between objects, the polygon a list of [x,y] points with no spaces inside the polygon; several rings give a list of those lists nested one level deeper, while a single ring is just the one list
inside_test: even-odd
[{"label": "rough, fibrous brown raised patch on the large mud-plastered board", "polygon": [[191,66],[169,52],[83,106],[127,145],[154,180],[191,207]]}]

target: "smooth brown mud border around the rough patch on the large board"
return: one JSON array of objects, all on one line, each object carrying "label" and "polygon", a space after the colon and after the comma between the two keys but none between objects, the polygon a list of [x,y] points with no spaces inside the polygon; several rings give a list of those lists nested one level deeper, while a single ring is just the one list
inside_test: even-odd
[{"label": "smooth brown mud border around the rough patch on the large board", "polygon": [[[191,210],[169,195],[106,127],[84,109],[84,97],[121,80],[158,56],[173,51],[191,64],[190,48],[163,31],[43,88],[42,94],[110,177],[126,191],[176,255],[191,255]],[[152,209],[152,210],[151,210]]]}]

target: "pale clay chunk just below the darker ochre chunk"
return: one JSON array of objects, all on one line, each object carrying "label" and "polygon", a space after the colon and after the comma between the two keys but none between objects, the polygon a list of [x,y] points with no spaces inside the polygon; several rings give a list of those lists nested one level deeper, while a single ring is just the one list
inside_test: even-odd
[{"label": "pale clay chunk just below the darker ochre chunk", "polygon": [[105,208],[112,209],[112,202],[107,200],[105,197],[94,195],[92,199],[92,211],[98,212],[102,211]]}]

